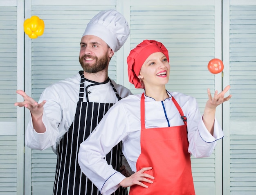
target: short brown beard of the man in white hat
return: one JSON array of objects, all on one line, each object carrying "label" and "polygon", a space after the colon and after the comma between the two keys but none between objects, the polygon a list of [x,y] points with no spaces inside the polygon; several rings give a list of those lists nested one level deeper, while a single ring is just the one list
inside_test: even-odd
[{"label": "short brown beard of the man in white hat", "polygon": [[[94,64],[84,63],[84,58],[94,58],[96,62]],[[79,57],[79,62],[85,72],[97,73],[108,66],[108,56],[104,55],[102,58],[97,58],[97,56],[84,55],[82,58]]]}]

